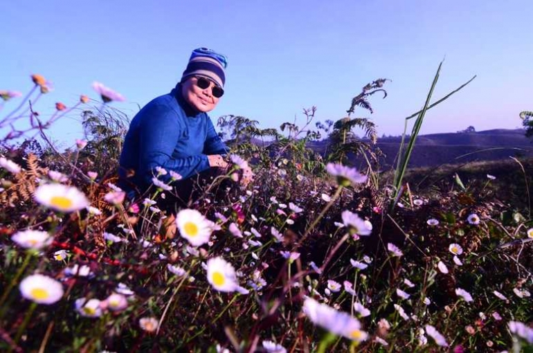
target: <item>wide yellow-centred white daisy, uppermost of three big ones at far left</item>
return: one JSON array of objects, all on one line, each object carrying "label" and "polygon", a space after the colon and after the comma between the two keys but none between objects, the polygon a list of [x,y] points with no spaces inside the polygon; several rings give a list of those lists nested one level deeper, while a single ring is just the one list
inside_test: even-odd
[{"label": "wide yellow-centred white daisy, uppermost of three big ones at far left", "polygon": [[60,212],[73,212],[89,206],[83,192],[73,186],[43,184],[35,190],[35,201]]}]

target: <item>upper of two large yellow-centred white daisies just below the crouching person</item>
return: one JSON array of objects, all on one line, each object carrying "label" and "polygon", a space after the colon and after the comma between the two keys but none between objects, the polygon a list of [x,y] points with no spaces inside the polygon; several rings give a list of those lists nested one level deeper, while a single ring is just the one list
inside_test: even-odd
[{"label": "upper of two large yellow-centred white daisies just below the crouching person", "polygon": [[209,242],[211,227],[209,222],[197,210],[185,209],[176,215],[176,224],[181,237],[190,242],[193,246],[200,246]]}]

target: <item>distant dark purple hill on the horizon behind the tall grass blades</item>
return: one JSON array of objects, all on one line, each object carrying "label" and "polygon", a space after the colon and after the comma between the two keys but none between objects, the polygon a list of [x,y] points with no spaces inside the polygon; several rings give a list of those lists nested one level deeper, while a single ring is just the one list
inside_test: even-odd
[{"label": "distant dark purple hill on the horizon behind the tall grass blades", "polygon": [[[381,159],[383,168],[395,163],[400,141],[401,136],[378,138],[377,147],[385,154]],[[406,138],[406,143],[408,141]],[[309,147],[323,153],[326,144],[327,141],[318,141]],[[523,129],[419,135],[409,165],[431,167],[444,163],[508,159],[509,156],[533,156],[533,140],[525,137]]]}]

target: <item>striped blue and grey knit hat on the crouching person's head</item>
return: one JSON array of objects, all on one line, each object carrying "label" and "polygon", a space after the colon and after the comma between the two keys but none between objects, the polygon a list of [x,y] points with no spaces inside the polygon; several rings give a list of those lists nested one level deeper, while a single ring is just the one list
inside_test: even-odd
[{"label": "striped blue and grey knit hat on the crouching person's head", "polygon": [[197,48],[192,51],[187,69],[183,71],[181,82],[190,76],[204,76],[215,82],[219,87],[224,87],[226,75],[224,69],[228,66],[228,58],[208,48]]}]

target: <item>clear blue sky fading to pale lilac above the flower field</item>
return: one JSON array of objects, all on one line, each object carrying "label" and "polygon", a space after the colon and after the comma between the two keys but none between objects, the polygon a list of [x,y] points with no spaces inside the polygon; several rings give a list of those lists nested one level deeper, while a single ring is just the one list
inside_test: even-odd
[{"label": "clear blue sky fading to pale lilac above the flower field", "polygon": [[[228,56],[226,96],[210,116],[247,116],[279,127],[316,105],[318,120],[345,116],[367,82],[389,78],[371,100],[379,134],[400,134],[424,102],[446,57],[435,99],[469,86],[428,112],[422,134],[515,128],[533,109],[533,1],[4,1],[0,89],[26,93],[40,73],[55,91],[39,102],[71,106],[98,98],[98,80],[122,93],[130,118],[181,77],[199,46]],[[19,98],[20,99],[20,98]],[[17,100],[3,108],[6,114]],[[2,114],[0,114],[0,117]],[[52,136],[71,145],[80,118]]]}]

